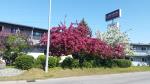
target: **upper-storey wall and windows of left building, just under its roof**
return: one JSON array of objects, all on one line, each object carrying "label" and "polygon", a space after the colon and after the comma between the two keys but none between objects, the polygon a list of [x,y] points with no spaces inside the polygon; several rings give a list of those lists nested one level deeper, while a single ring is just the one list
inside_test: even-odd
[{"label": "upper-storey wall and windows of left building, just under its roof", "polygon": [[30,40],[32,40],[33,45],[39,44],[42,34],[46,32],[45,30],[42,29],[36,29],[31,27],[20,27],[11,24],[10,25],[0,24],[0,26],[2,27],[1,32],[7,32],[13,34],[20,33],[27,36]]}]

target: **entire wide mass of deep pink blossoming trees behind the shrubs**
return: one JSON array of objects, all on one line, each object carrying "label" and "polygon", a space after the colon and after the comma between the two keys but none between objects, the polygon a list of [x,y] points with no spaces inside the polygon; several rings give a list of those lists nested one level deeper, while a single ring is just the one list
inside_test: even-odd
[{"label": "entire wide mass of deep pink blossoming trees behind the shrubs", "polygon": [[[123,47],[117,45],[111,47],[106,42],[90,37],[90,31],[85,25],[72,23],[67,28],[65,25],[53,27],[50,37],[50,52],[52,55],[72,54],[74,52],[84,52],[87,54],[96,54],[101,58],[118,58],[122,56]],[[41,45],[47,44],[47,34],[43,34]]]}]

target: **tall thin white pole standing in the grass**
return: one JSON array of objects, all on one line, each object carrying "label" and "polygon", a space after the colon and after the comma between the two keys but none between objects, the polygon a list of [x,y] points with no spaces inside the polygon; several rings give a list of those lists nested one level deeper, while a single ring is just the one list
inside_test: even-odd
[{"label": "tall thin white pole standing in the grass", "polygon": [[50,29],[51,29],[51,0],[49,0],[49,15],[48,15],[48,38],[47,38],[47,52],[46,52],[46,62],[45,62],[45,72],[48,72],[48,57],[49,57],[49,47],[50,47]]}]

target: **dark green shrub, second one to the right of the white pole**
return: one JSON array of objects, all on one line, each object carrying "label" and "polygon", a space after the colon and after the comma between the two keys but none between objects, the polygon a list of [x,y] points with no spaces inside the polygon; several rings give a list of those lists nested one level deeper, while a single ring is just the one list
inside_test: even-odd
[{"label": "dark green shrub, second one to the right of the white pole", "polygon": [[67,57],[62,63],[61,67],[62,68],[70,68],[72,69],[72,64],[73,64],[73,58]]}]

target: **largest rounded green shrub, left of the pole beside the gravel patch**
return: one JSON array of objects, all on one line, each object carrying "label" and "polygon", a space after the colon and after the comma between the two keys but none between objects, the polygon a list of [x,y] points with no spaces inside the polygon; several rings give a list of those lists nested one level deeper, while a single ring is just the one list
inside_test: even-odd
[{"label": "largest rounded green shrub, left of the pole beside the gravel patch", "polygon": [[33,67],[34,58],[29,55],[19,56],[15,60],[15,67],[22,70],[28,70]]}]

